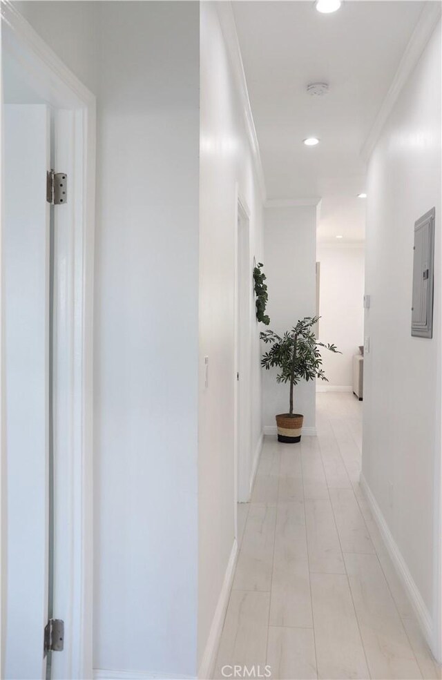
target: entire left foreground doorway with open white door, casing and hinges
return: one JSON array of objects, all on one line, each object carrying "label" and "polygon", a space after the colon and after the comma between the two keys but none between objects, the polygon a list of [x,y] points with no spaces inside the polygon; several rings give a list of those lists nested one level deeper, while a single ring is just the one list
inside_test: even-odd
[{"label": "entire left foreground doorway with open white door, casing and hinges", "polygon": [[1,28],[2,671],[92,677],[95,97]]}]

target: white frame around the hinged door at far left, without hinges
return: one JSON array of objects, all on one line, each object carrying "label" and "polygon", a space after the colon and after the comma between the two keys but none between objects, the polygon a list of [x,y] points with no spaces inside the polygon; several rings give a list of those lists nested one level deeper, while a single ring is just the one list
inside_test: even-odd
[{"label": "white frame around the hinged door at far left, without hinges", "polygon": [[[72,205],[70,294],[66,300],[66,336],[70,384],[68,423],[71,445],[64,452],[70,469],[63,492],[69,498],[68,550],[69,653],[65,677],[93,677],[93,268],[95,231],[95,95],[57,57],[9,0],[1,4],[2,49],[7,50],[32,82],[32,88],[53,108],[73,111],[73,177],[68,201]],[[2,98],[3,105],[3,98]],[[3,215],[2,215],[3,220]],[[1,247],[1,244],[0,244]],[[1,291],[1,301],[3,291]],[[0,302],[1,304],[1,302]],[[1,316],[3,319],[3,314]],[[4,438],[4,329],[1,342],[1,490],[6,484]],[[1,494],[1,599],[6,595],[5,494]],[[2,612],[5,608],[2,607]],[[4,630],[5,621],[1,621]],[[42,632],[43,636],[43,632]],[[4,659],[3,637],[1,661]]]}]

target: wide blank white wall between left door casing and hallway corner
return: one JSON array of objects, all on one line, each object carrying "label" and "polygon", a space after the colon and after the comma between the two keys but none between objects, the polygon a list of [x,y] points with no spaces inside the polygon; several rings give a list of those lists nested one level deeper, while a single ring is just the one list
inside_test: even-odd
[{"label": "wide blank white wall between left door casing and hallway corner", "polygon": [[97,94],[95,668],[194,677],[199,4],[20,10]]}]

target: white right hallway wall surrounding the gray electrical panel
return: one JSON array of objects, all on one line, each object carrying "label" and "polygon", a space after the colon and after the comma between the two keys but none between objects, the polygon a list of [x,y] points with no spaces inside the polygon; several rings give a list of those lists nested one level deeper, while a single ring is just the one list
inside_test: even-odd
[{"label": "white right hallway wall surrounding the gray electrical panel", "polygon": [[[430,624],[441,456],[441,26],[369,160],[363,475]],[[412,338],[414,222],[436,208],[434,336]],[[438,476],[439,469],[439,476]],[[426,611],[425,611],[426,610]]]}]

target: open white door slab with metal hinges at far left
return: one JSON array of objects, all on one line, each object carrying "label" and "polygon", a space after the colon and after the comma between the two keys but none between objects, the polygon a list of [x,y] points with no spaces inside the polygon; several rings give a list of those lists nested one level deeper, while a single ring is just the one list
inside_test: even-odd
[{"label": "open white door slab with metal hinges at far left", "polygon": [[5,105],[3,318],[6,380],[5,677],[45,677],[48,613],[50,117]]}]

